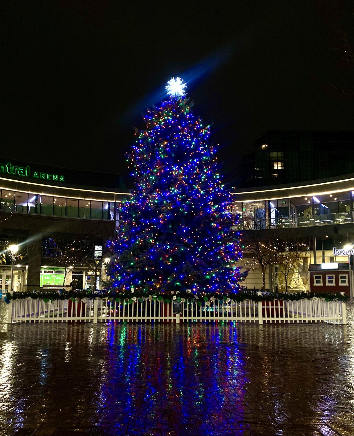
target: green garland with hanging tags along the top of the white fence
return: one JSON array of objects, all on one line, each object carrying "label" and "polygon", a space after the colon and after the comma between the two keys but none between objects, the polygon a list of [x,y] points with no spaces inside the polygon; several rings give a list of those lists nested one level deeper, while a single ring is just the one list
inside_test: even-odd
[{"label": "green garland with hanging tags along the top of the white fence", "polygon": [[[51,300],[72,300],[81,301],[84,300],[94,300],[96,298],[108,298],[109,300],[115,300],[117,303],[119,301],[125,303],[134,303],[136,301],[143,302],[144,300],[157,300],[158,302],[163,301],[164,303],[171,303],[173,300],[173,294],[170,293],[146,293],[146,292],[114,292],[112,290],[103,290],[97,293],[91,293],[89,290],[82,291],[65,291],[63,290],[61,294],[56,291],[40,291],[40,292],[13,292],[6,293],[5,301],[7,303],[10,300],[23,300],[23,299],[33,299],[33,300],[44,300],[45,302]],[[310,292],[299,292],[299,293],[263,293],[258,295],[255,292],[241,291],[239,293],[198,293],[194,294],[191,292],[181,291],[176,294],[176,299],[178,302],[183,302],[189,299],[195,299],[199,306],[208,305],[217,300],[220,302],[230,302],[231,300],[240,303],[244,300],[251,300],[255,302],[259,301],[272,301],[272,300],[285,300],[285,301],[300,301],[300,300],[312,300],[323,298],[326,301],[347,301],[348,296],[342,295],[341,293],[310,293]]]}]

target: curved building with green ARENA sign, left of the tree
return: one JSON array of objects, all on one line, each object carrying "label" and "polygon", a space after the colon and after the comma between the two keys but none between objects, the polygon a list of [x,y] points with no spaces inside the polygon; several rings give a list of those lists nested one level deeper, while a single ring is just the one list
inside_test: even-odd
[{"label": "curved building with green ARENA sign, left of the tree", "polygon": [[68,286],[72,279],[87,288],[94,276],[101,286],[105,242],[129,195],[119,174],[0,158],[0,189],[0,289],[10,289],[11,244],[19,245],[13,290]]}]

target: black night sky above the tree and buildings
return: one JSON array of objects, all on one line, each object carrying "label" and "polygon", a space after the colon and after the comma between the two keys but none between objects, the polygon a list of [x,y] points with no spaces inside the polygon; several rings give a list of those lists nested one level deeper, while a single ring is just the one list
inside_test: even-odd
[{"label": "black night sky above the tree and buildings", "polygon": [[132,126],[181,75],[232,183],[266,130],[354,130],[338,42],[353,41],[353,12],[349,0],[3,0],[0,154],[126,177]]}]

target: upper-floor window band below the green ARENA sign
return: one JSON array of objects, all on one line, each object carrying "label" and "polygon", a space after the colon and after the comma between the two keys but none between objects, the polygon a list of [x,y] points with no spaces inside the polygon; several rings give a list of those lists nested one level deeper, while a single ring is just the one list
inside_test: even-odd
[{"label": "upper-floor window band below the green ARENA sign", "polygon": [[1,190],[0,210],[70,218],[114,220],[118,204]]}]

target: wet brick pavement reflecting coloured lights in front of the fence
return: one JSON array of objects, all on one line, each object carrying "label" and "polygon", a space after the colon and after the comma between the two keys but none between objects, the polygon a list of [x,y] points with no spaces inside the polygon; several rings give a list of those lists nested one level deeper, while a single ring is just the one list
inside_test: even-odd
[{"label": "wet brick pavement reflecting coloured lights in front of the fence", "polygon": [[347,306],[347,326],[1,324],[0,436],[352,436]]}]

